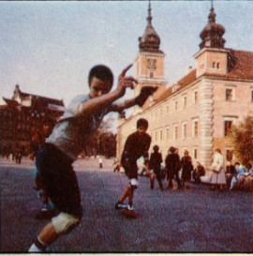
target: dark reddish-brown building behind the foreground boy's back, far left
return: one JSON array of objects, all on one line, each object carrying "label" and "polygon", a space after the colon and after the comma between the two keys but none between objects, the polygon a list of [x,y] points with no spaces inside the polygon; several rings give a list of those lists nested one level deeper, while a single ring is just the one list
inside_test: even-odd
[{"label": "dark reddish-brown building behind the foreground boy's back, far left", "polygon": [[58,118],[64,113],[63,100],[23,93],[17,84],[13,97],[3,98],[0,106],[0,149],[21,149],[28,154],[33,147],[44,142]]}]

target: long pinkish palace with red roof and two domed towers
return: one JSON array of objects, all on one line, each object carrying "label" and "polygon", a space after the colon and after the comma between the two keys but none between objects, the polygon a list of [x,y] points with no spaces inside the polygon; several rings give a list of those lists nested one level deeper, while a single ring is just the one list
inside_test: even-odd
[{"label": "long pinkish palace with red roof and two domed towers", "polygon": [[185,77],[165,89],[164,53],[151,24],[150,6],[147,20],[135,60],[135,76],[140,81],[135,90],[138,94],[142,84],[150,83],[159,90],[127,120],[119,119],[118,157],[127,135],[136,130],[136,121],[144,117],[149,121],[151,148],[158,144],[163,158],[173,145],[181,156],[187,149],[193,162],[199,160],[206,168],[217,147],[225,158],[234,159],[227,134],[232,123],[253,116],[253,53],[224,47],[225,28],[216,23],[212,6],[201,31],[200,51],[194,55],[197,68],[190,67]]}]

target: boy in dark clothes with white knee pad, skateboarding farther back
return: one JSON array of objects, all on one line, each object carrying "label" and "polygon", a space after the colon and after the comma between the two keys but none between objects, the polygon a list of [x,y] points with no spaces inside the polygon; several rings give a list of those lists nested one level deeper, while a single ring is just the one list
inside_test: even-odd
[{"label": "boy in dark clothes with white knee pad, skateboarding farther back", "polygon": [[[146,133],[147,128],[148,121],[140,118],[137,121],[137,131],[127,137],[121,158],[122,166],[127,174],[128,186],[121,195],[120,200],[115,203],[115,209],[125,209],[125,213],[133,218],[137,218],[137,214],[133,209],[133,195],[134,190],[138,188],[138,158],[144,158],[144,165],[148,169],[148,150],[151,137]],[[128,199],[128,204],[124,204],[126,199]]]}]

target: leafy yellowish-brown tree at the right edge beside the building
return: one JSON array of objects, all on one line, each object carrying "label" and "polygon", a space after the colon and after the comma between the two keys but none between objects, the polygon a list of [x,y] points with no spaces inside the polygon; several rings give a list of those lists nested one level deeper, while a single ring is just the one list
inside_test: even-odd
[{"label": "leafy yellowish-brown tree at the right edge beside the building", "polygon": [[253,117],[246,116],[239,125],[232,125],[229,137],[233,143],[235,155],[242,164],[253,160]]}]

